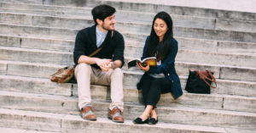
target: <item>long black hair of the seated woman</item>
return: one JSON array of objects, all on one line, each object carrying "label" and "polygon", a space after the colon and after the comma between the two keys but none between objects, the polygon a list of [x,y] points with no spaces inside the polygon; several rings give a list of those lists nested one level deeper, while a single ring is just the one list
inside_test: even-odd
[{"label": "long black hair of the seated woman", "polygon": [[[168,30],[162,40],[159,41],[159,36],[154,31],[155,19],[163,19],[166,22]],[[148,39],[148,45],[146,47],[146,55],[152,57],[156,55],[158,61],[163,60],[170,53],[172,48],[172,18],[166,12],[160,12],[154,16],[151,33]]]}]

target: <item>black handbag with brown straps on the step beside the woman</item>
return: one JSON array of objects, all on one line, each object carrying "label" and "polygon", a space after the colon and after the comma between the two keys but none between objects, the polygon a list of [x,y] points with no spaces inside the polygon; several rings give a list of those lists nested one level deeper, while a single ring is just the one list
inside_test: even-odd
[{"label": "black handbag with brown straps on the step beside the woman", "polygon": [[[216,79],[213,76],[213,73],[214,72],[210,72],[209,70],[189,70],[189,78],[187,80],[185,90],[190,93],[210,94],[210,87],[217,87]],[[215,86],[211,85],[212,82],[215,83]]]}]

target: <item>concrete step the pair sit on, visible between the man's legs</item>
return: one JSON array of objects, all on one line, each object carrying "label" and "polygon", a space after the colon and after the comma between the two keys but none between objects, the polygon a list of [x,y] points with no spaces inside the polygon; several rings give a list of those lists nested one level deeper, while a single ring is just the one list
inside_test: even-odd
[{"label": "concrete step the pair sit on, visible between the man's legs", "polygon": [[[1,87],[3,91],[20,91],[20,92],[32,92],[38,94],[49,94],[55,96],[73,96],[78,97],[76,84],[61,84],[57,85],[52,83],[49,79],[41,78],[25,78],[12,75],[0,75]],[[126,80],[126,79],[125,79]],[[224,82],[224,80],[222,80]],[[13,84],[10,84],[13,83]],[[44,89],[38,89],[38,88]],[[221,88],[229,90],[227,88]],[[230,89],[231,90],[231,89]],[[234,91],[236,89],[233,89]],[[247,89],[250,91],[249,89]],[[214,92],[215,91],[215,92]],[[247,92],[248,92],[247,91]],[[141,91],[137,91],[135,86],[124,86],[125,102],[131,103],[143,103],[143,97]],[[4,95],[4,94],[3,94]],[[95,99],[110,100],[110,91],[108,86],[91,86],[91,95]],[[251,94],[255,95],[255,94]],[[250,96],[250,95],[249,95]],[[4,98],[6,99],[6,98]],[[237,101],[241,102],[240,106],[236,106]],[[170,106],[172,104],[183,105],[187,107],[198,108],[215,108],[221,110],[235,110],[235,111],[247,111],[256,113],[253,104],[256,103],[255,97],[245,96],[231,96],[226,94],[218,94],[218,91],[212,89],[211,95],[203,94],[191,94],[184,93],[183,97],[174,100],[170,93],[163,94],[160,98],[159,105]]]}]

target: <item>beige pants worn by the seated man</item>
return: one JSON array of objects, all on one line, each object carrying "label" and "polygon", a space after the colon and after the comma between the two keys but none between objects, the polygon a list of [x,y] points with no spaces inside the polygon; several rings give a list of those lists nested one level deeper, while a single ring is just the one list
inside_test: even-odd
[{"label": "beige pants worn by the seated man", "polygon": [[123,92],[123,72],[121,69],[109,69],[108,72],[103,72],[100,69],[95,69],[90,64],[78,64],[75,68],[75,78],[78,81],[79,93],[79,108],[91,103],[90,84],[104,85],[111,87],[112,103],[109,109],[114,107],[124,110],[124,92]]}]

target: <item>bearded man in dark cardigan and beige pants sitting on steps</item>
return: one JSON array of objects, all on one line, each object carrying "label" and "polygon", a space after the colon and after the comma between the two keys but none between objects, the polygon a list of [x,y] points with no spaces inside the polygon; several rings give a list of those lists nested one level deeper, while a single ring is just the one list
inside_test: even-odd
[{"label": "bearded man in dark cardigan and beige pants sitting on steps", "polygon": [[[123,72],[125,42],[123,36],[114,30],[115,8],[99,5],[91,10],[96,25],[79,30],[73,52],[75,77],[78,81],[79,108],[83,119],[96,120],[90,98],[90,84],[111,86],[111,100],[108,118],[124,122],[121,115],[123,102]],[[102,49],[89,57],[96,49]]]}]

